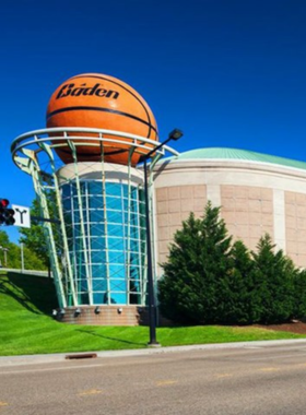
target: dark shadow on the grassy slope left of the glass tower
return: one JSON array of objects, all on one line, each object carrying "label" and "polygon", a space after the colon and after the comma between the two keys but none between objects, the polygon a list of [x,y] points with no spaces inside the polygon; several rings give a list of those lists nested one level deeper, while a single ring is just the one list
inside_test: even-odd
[{"label": "dark shadow on the grassy slope left of the glass tower", "polygon": [[52,308],[57,307],[54,282],[42,276],[8,272],[0,275],[0,294],[12,297],[36,315],[50,316]]}]

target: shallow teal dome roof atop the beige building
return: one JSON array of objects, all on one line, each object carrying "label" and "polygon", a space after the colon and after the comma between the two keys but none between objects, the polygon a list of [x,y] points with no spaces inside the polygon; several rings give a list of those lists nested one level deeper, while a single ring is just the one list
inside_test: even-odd
[{"label": "shallow teal dome roof atop the beige building", "polygon": [[293,167],[306,170],[306,163],[298,162],[290,158],[272,156],[269,154],[261,154],[248,150],[237,149],[221,149],[208,147],[191,150],[189,152],[180,153],[177,157],[172,157],[175,161],[196,161],[196,159],[236,159],[245,162],[259,162],[268,164],[276,164],[285,167]]}]

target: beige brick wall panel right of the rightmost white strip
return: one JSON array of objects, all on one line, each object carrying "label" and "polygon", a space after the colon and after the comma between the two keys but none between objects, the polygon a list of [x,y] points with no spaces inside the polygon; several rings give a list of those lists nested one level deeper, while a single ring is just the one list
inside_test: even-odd
[{"label": "beige brick wall panel right of the rightmost white strip", "polygon": [[287,254],[306,266],[306,194],[285,192],[285,232]]}]

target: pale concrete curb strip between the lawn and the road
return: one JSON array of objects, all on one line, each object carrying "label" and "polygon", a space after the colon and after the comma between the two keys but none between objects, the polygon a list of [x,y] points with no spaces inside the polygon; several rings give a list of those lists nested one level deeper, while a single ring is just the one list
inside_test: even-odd
[{"label": "pale concrete curb strip between the lawn and the road", "polygon": [[281,345],[305,345],[306,339],[293,340],[268,340],[268,341],[254,341],[254,342],[235,342],[235,343],[217,343],[217,344],[195,344],[190,346],[172,346],[172,347],[148,347],[128,351],[102,351],[102,352],[71,352],[71,353],[56,353],[48,355],[20,355],[20,356],[0,356],[0,368],[7,366],[20,365],[34,365],[43,363],[57,363],[67,361],[67,356],[82,356],[87,354],[95,354],[97,357],[111,358],[125,356],[143,356],[162,353],[180,353],[189,351],[203,351],[203,349],[220,349],[220,348],[248,348],[248,347],[273,347]]}]

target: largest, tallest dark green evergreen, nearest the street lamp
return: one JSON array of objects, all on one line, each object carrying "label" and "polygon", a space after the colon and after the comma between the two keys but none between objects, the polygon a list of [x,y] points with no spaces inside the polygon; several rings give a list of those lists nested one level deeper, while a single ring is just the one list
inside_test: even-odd
[{"label": "largest, tallest dark green evergreen, nearest the street lamp", "polygon": [[190,213],[174,236],[168,262],[158,283],[161,311],[179,323],[209,323],[223,319],[231,271],[231,240],[220,208],[209,202],[202,218]]}]

